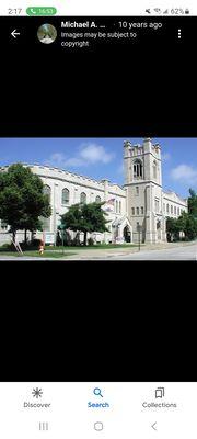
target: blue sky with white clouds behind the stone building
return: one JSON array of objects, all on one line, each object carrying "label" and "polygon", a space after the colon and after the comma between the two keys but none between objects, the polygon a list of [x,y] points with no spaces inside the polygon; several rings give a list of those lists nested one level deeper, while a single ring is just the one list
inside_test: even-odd
[{"label": "blue sky with white clouds behind the stone building", "polygon": [[[56,166],[124,183],[123,143],[142,138],[0,138],[0,166],[22,161]],[[162,150],[163,188],[182,196],[197,191],[197,138],[153,138]]]}]

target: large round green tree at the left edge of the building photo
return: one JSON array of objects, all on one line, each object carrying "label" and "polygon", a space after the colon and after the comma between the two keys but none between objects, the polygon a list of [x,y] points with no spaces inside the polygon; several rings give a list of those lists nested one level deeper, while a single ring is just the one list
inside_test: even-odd
[{"label": "large round green tree at the left edge of the building photo", "polygon": [[30,168],[15,164],[0,172],[0,218],[9,224],[15,240],[16,230],[42,230],[40,216],[49,217],[51,207],[42,179]]}]

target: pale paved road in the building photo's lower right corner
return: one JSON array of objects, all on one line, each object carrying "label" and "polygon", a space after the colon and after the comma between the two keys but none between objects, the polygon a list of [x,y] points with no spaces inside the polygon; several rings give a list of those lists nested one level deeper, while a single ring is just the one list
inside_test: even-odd
[{"label": "pale paved road in the building photo's lower right corner", "polygon": [[197,261],[197,243],[187,246],[162,250],[141,250],[136,254],[112,257],[111,260],[195,260]]}]

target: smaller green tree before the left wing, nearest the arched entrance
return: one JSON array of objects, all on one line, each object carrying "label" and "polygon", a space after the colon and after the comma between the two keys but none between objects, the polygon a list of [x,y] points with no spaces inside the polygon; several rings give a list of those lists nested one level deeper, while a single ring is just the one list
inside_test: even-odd
[{"label": "smaller green tree before the left wing, nearest the arched entrance", "polygon": [[103,210],[104,203],[74,204],[69,211],[61,215],[60,229],[70,229],[73,232],[83,232],[83,244],[86,246],[86,235],[92,232],[108,232],[105,218],[107,215]]}]

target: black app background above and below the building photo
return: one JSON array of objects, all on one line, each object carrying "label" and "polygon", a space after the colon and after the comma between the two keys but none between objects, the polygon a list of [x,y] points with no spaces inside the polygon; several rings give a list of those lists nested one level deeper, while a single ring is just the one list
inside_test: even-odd
[{"label": "black app background above and below the building photo", "polygon": [[[34,42],[40,23],[1,18],[1,136],[197,135],[195,18],[170,18],[158,41],[68,53]],[[26,40],[10,43],[18,27]],[[1,263],[2,380],[194,379],[193,297],[181,297],[194,270]]]}]

